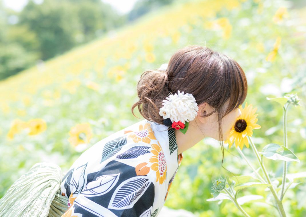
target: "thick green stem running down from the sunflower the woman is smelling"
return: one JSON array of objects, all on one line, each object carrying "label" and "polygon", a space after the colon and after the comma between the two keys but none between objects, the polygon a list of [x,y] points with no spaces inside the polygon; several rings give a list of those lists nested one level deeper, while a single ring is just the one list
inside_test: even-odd
[{"label": "thick green stem running down from the sunflower the woman is smelling", "polygon": [[[253,151],[254,151],[256,157],[257,157],[257,160],[258,160],[258,162],[259,162],[259,164],[260,164],[260,166],[261,166],[261,169],[262,169],[262,171],[263,171],[263,173],[264,173],[264,175],[265,175],[265,177],[266,177],[268,183],[269,183],[270,185],[272,185],[272,182],[271,182],[271,179],[270,179],[270,177],[269,177],[269,175],[268,175],[268,173],[267,173],[267,170],[266,170],[264,164],[261,163],[261,160],[260,160],[260,157],[259,157],[259,153],[258,153],[258,151],[257,151],[257,149],[256,149],[256,146],[254,145],[254,143],[253,143],[253,141],[252,141],[252,138],[249,137],[248,135],[247,135],[247,137],[248,137],[248,139],[249,139],[249,142],[251,143],[252,149],[253,149]],[[281,213],[281,216],[282,216],[282,217],[285,217],[285,216],[286,216],[286,213],[285,213],[285,210],[284,210],[282,201],[279,200],[278,195],[277,195],[277,193],[276,193],[276,191],[275,191],[275,189],[274,189],[274,186],[272,185],[272,186],[269,186],[268,188],[270,188],[270,190],[271,190],[271,192],[272,192],[272,195],[274,196],[274,199],[275,199],[276,204],[277,204],[277,206],[278,206],[279,212]]]}]

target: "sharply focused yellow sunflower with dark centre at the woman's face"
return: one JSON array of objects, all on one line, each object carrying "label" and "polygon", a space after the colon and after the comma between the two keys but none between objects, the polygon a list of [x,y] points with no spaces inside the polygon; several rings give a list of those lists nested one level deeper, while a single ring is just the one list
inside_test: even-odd
[{"label": "sharply focused yellow sunflower with dark centre at the woman's face", "polygon": [[236,148],[240,147],[242,150],[243,145],[248,148],[248,136],[252,136],[253,131],[252,129],[259,129],[261,128],[260,125],[256,124],[258,114],[255,114],[257,108],[252,108],[252,105],[248,105],[245,103],[244,108],[242,109],[242,105],[239,106],[241,111],[241,116],[236,119],[236,123],[230,130],[229,138],[225,141],[225,143],[229,144],[229,148],[232,146],[233,142],[236,144]]}]

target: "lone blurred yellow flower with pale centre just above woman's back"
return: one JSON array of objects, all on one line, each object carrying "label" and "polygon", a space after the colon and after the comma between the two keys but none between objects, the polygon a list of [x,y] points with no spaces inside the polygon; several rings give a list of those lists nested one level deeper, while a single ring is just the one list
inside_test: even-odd
[{"label": "lone blurred yellow flower with pale centre just above woman's back", "polygon": [[76,124],[69,131],[68,141],[76,147],[79,144],[89,143],[92,138],[92,132],[89,123]]}]

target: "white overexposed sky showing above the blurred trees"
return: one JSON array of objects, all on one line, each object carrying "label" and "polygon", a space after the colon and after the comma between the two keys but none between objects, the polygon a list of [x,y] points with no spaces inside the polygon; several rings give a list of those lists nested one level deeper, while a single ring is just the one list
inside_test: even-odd
[{"label": "white overexposed sky showing above the blurred trees", "polygon": [[[121,15],[128,13],[132,10],[137,0],[101,0],[102,2],[110,4]],[[37,4],[43,2],[43,0],[34,0]],[[11,8],[16,11],[21,11],[23,7],[28,3],[28,0],[3,0],[5,7]]]}]

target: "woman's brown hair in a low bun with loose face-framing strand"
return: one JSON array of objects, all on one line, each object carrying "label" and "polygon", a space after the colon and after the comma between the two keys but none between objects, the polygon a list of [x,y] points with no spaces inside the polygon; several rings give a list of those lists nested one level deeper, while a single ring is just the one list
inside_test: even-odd
[{"label": "woman's brown hair in a low bun with loose face-framing strand", "polygon": [[[248,91],[247,79],[240,65],[227,55],[207,47],[191,45],[181,48],[172,55],[165,71],[146,70],[141,74],[137,85],[139,101],[132,106],[133,115],[138,106],[145,119],[163,124],[164,119],[159,115],[162,100],[169,92],[174,94],[177,90],[191,93],[198,105],[207,102],[214,108],[213,112],[200,117],[218,112],[219,138],[223,148],[222,118],[242,105]],[[223,111],[228,100],[229,106]],[[222,163],[223,158],[224,148]]]}]

